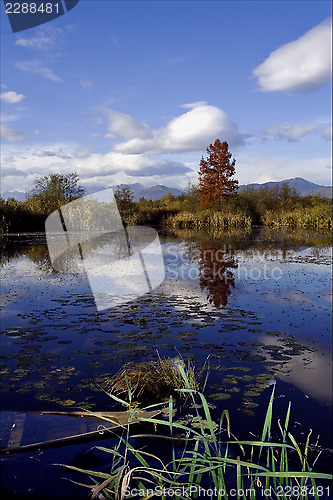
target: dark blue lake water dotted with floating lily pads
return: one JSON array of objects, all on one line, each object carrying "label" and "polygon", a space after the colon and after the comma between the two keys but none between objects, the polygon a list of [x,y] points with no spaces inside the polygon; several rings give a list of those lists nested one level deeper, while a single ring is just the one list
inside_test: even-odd
[{"label": "dark blue lake water dotted with floating lily pads", "polygon": [[[197,372],[208,367],[212,414],[218,418],[227,408],[237,437],[260,432],[276,383],[275,418],[283,419],[292,401],[291,427],[300,442],[312,429],[314,441],[320,435],[321,446],[332,448],[331,236],[254,228],[162,233],[160,240],[163,283],[101,312],[84,274],[52,269],[43,234],[3,240],[3,418],[73,407],[111,410],[115,404],[101,386],[125,363],[180,354]],[[6,447],[8,436],[1,438]],[[76,463],[83,449],[39,457],[49,485],[64,472],[51,474],[48,464]],[[7,494],[27,489],[20,481],[13,486],[22,461],[29,466],[26,457],[5,459]],[[38,477],[30,477],[33,498],[42,498]],[[69,484],[59,498],[80,497]]]}]

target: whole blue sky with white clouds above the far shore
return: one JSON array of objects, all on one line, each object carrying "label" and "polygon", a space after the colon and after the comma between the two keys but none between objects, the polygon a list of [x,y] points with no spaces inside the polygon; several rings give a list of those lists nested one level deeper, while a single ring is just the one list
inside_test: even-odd
[{"label": "whole blue sky with white clouds above the far shore", "polygon": [[80,0],[12,33],[1,2],[1,192],[77,172],[185,189],[216,138],[240,184],[331,185],[329,0]]}]

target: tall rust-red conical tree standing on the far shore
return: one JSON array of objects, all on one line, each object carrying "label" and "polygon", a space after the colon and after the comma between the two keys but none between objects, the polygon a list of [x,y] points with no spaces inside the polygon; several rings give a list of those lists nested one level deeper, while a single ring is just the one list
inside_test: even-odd
[{"label": "tall rust-red conical tree standing on the far shore", "polygon": [[208,157],[200,161],[198,193],[202,206],[220,207],[237,191],[238,181],[235,175],[235,159],[231,159],[229,145],[216,139],[207,148]]}]

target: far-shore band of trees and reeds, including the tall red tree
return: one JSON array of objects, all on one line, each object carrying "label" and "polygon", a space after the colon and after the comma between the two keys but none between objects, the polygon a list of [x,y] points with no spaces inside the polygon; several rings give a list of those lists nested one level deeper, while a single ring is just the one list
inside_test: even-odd
[{"label": "far-shore band of trees and reeds, including the tall red tree", "polygon": [[[152,201],[134,201],[129,188],[115,193],[125,225],[147,224],[171,228],[310,227],[332,229],[332,200],[320,196],[300,196],[287,183],[269,188],[247,187],[238,191],[234,178],[236,160],[227,142],[216,139],[200,161],[198,185],[184,194],[171,193]],[[77,173],[51,174],[35,181],[23,202],[0,198],[2,233],[44,231],[45,219],[54,210],[84,195]]]}]

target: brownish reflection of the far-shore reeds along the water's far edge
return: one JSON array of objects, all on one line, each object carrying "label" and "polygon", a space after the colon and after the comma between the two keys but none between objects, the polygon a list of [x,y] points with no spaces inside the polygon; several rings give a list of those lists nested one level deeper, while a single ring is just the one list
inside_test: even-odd
[{"label": "brownish reflection of the far-shore reeds along the water's far edge", "polygon": [[[320,234],[306,229],[275,231],[269,228],[253,228],[252,231],[235,230],[223,232],[200,232],[191,230],[173,230],[173,234],[164,235],[167,241],[179,243],[179,238],[184,239],[185,253],[190,261],[200,257],[200,244],[213,244],[214,248],[227,247],[228,253],[242,252],[242,257],[279,258],[283,261],[294,258],[295,252],[304,248],[311,248],[312,260],[322,259],[323,250],[331,248],[332,234]],[[101,245],[101,238],[97,246]],[[126,247],[127,244],[123,245]],[[86,244],[86,252],[95,249],[93,238]],[[4,266],[12,259],[21,256],[28,257],[38,267],[45,271],[53,272],[43,233],[4,235],[0,241],[0,266]],[[308,260],[310,257],[308,257]],[[73,264],[73,262],[72,262]]]}]

